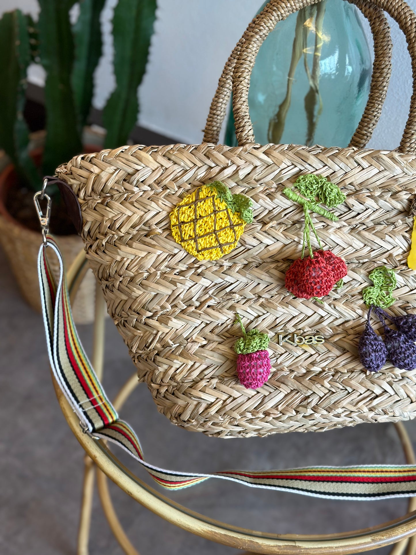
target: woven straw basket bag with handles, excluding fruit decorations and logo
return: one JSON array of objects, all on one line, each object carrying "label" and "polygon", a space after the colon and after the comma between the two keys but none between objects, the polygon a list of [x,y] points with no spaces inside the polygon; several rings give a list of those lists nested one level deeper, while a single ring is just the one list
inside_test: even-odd
[{"label": "woven straw basket bag with handles, excluding fruit decorations and logo", "polygon": [[[252,143],[247,91],[256,52],[276,21],[310,3],[270,2],[226,64],[205,140],[217,140],[232,84],[239,147],[135,145],[78,156],[57,170],[78,196],[87,256],[139,379],[159,411],[188,430],[265,436],[416,415],[416,370],[387,364],[367,375],[357,351],[367,314],[362,291],[376,266],[398,271],[390,311],[416,307],[416,275],[406,264],[416,95],[400,152]],[[407,33],[413,68],[416,26],[403,2],[354,3],[376,41],[372,92],[353,138],[362,146],[377,123],[390,73],[389,30],[379,8]],[[347,196],[336,223],[313,216],[323,243],[348,265],[344,287],[323,304],[294,299],[285,289],[285,272],[301,254],[303,212],[282,189],[307,173],[326,176]],[[187,193],[215,180],[252,199],[254,220],[231,253],[198,261],[173,239],[169,214]],[[270,378],[257,390],[237,379],[236,312],[247,330],[256,327],[271,339]],[[319,334],[325,342],[280,345],[279,334],[288,333]]]}]

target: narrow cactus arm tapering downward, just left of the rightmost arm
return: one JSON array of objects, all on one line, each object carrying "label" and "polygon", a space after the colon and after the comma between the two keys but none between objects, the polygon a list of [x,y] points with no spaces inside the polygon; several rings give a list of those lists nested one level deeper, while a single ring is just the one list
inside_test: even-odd
[{"label": "narrow cactus arm tapering downward, just left of the rightmost arm", "polygon": [[93,76],[102,51],[100,13],[105,0],[81,0],[77,23],[73,27],[75,59],[72,89],[80,130],[87,123],[93,98]]}]

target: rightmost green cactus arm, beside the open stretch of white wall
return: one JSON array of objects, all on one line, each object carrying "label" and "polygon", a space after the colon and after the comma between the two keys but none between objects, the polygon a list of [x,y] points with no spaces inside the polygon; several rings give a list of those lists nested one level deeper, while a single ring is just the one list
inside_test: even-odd
[{"label": "rightmost green cactus arm, beside the open stretch of white wall", "polygon": [[119,0],[114,10],[116,89],[103,111],[106,148],[125,144],[136,123],[137,89],[146,70],[155,12],[156,0]]}]

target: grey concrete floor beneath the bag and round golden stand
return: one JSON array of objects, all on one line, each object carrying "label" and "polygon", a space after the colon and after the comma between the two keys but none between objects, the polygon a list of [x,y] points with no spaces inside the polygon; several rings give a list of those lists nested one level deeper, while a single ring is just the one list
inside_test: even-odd
[{"label": "grey concrete floor beneath the bag and round golden stand", "polygon": [[[64,421],[49,375],[42,320],[17,291],[0,252],[0,553],[73,555],[76,553],[83,452]],[[91,345],[91,326],[80,326]],[[114,325],[107,321],[106,391],[113,396],[134,372]],[[290,433],[224,441],[173,426],[156,410],[140,384],[121,416],[138,432],[146,459],[187,471],[225,468],[267,470],[300,465],[402,463],[392,425],[361,425],[324,433]],[[416,440],[416,426],[407,423]],[[114,447],[117,449],[116,447]],[[125,453],[117,451],[140,478],[153,483]],[[157,486],[156,486],[157,487]],[[141,555],[226,555],[236,549],[205,541],[163,521],[111,484],[115,506]],[[404,499],[331,501],[282,492],[252,490],[211,480],[169,493],[195,511],[241,527],[276,533],[332,533],[365,528],[406,512]],[[371,553],[384,555],[390,548]],[[119,555],[97,496],[90,555]]]}]

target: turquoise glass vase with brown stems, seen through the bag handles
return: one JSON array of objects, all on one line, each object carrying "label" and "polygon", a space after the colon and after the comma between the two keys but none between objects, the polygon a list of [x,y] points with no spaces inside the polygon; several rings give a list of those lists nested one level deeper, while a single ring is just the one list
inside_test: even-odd
[{"label": "turquoise glass vase with brown stems, seen through the bag handles", "polygon": [[[371,72],[366,34],[349,2],[322,0],[278,22],[251,74],[256,143],[346,147],[364,112]],[[231,109],[225,144],[237,145]]]}]

